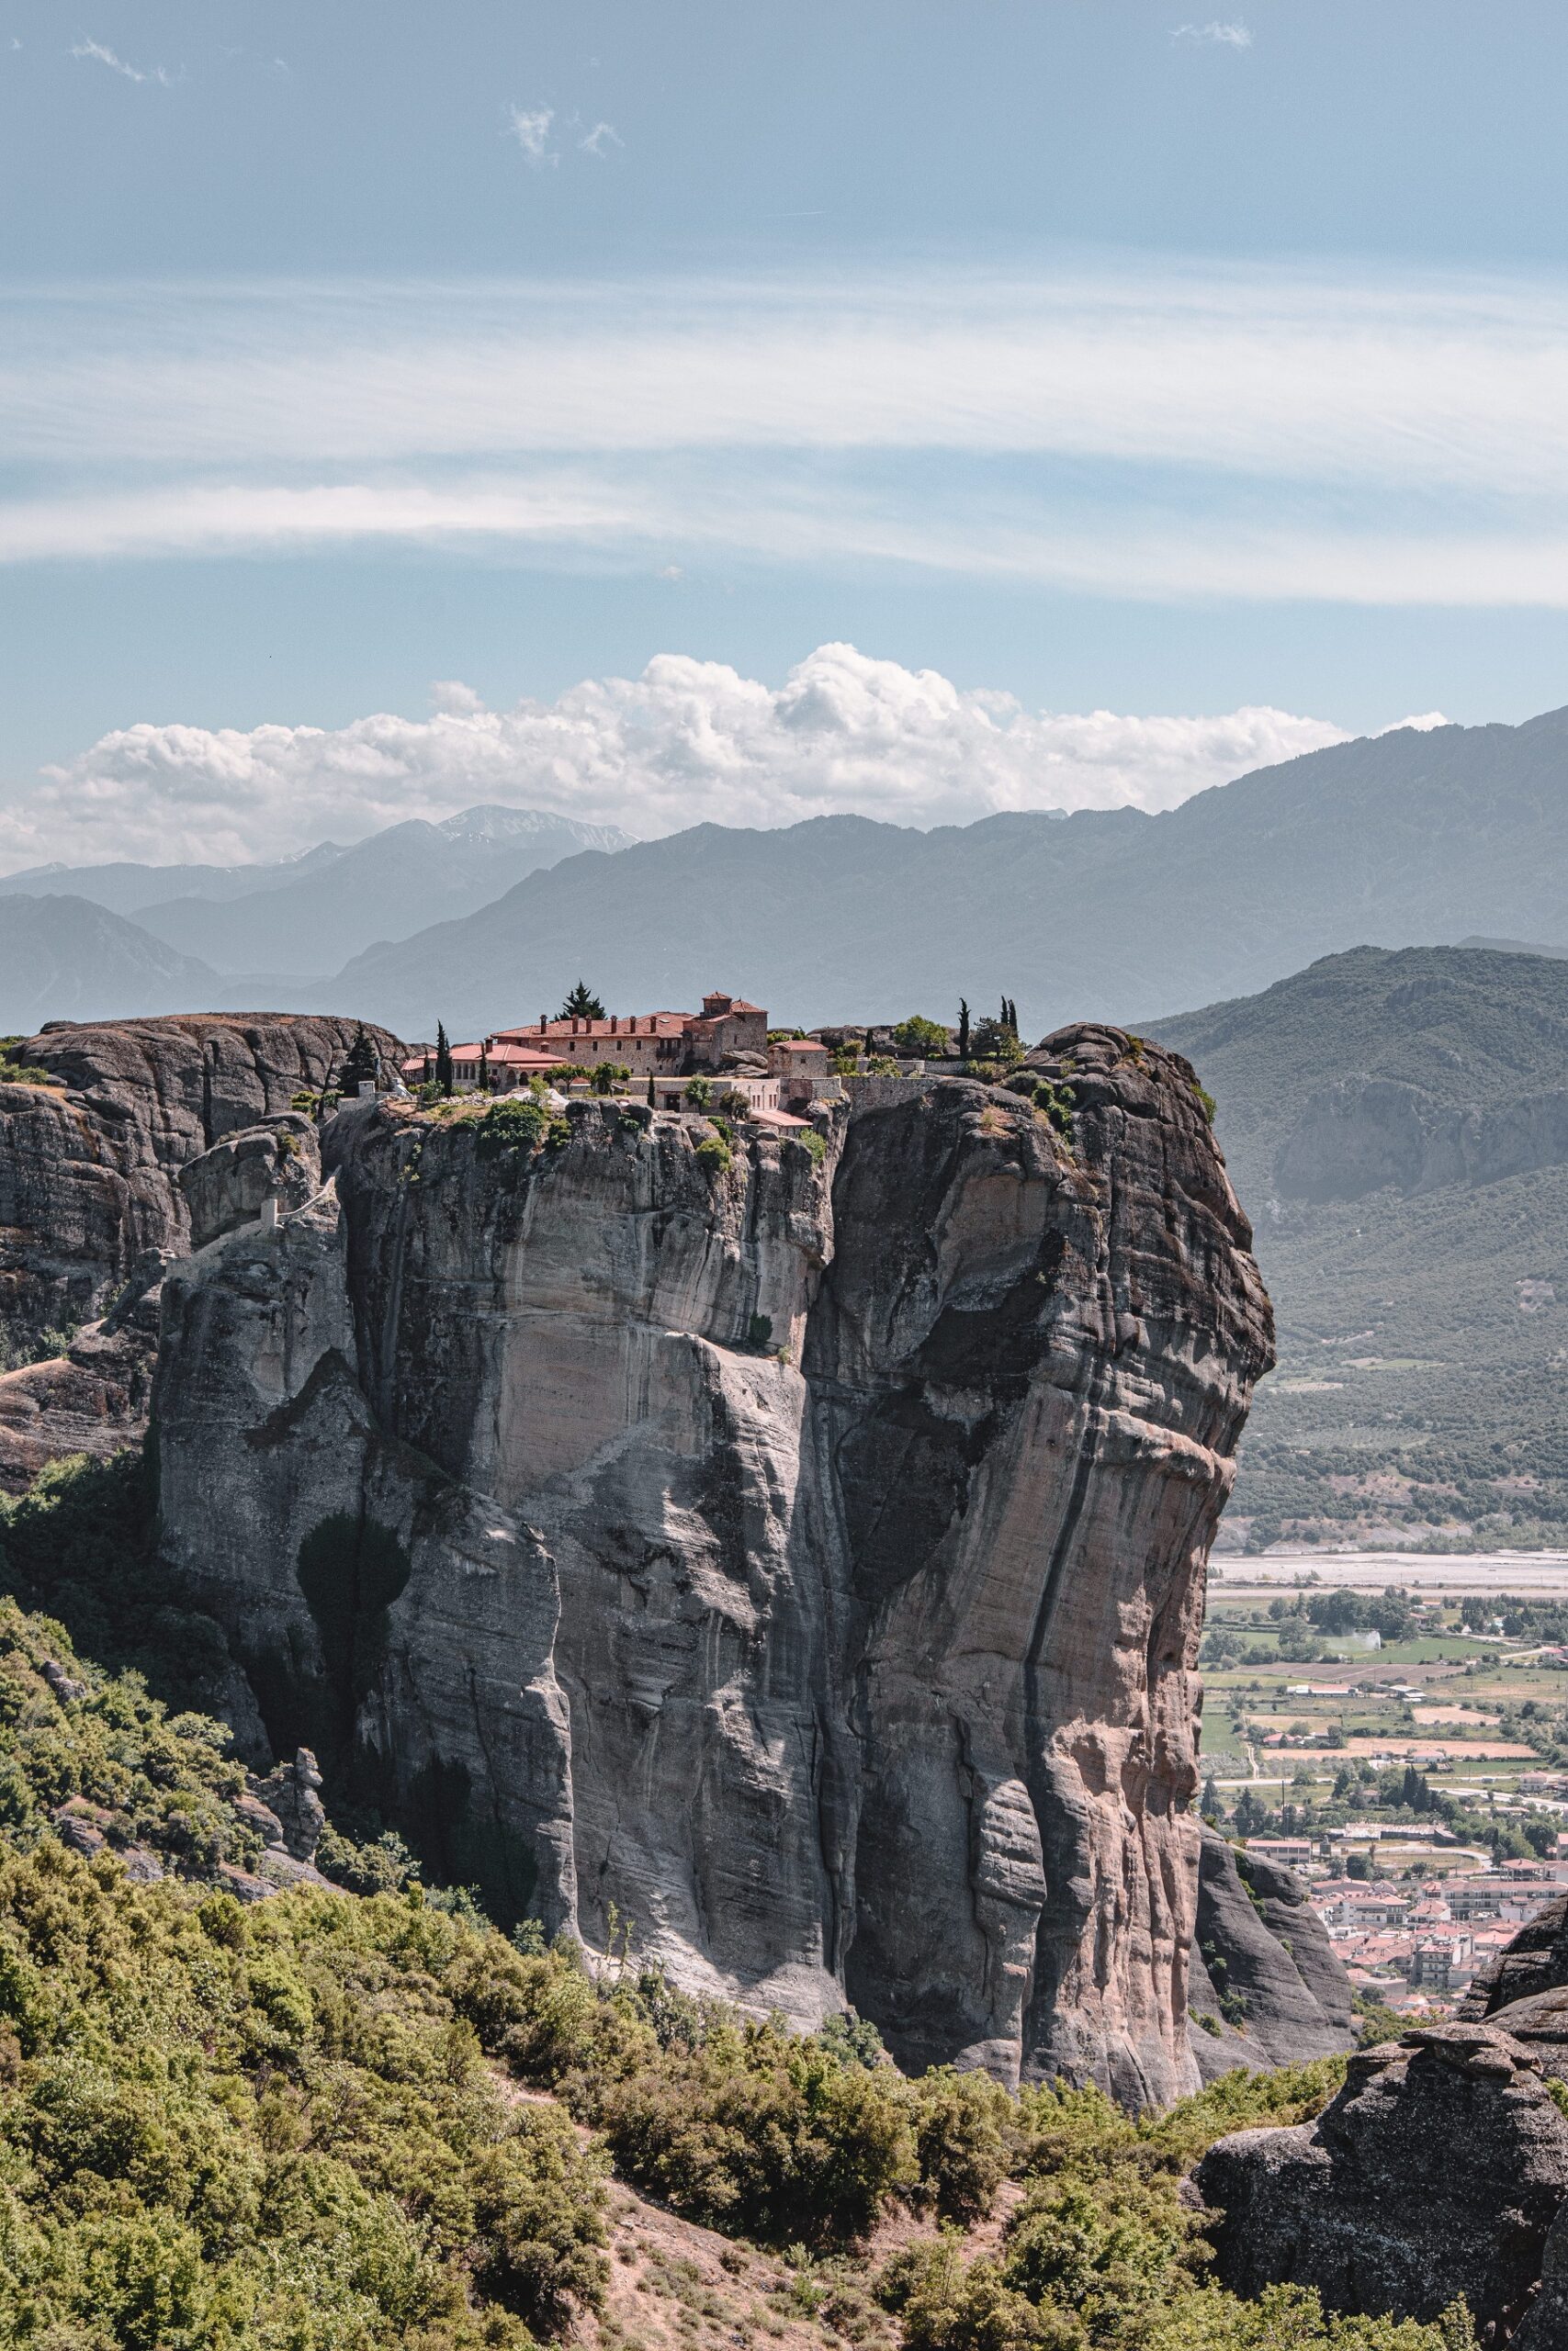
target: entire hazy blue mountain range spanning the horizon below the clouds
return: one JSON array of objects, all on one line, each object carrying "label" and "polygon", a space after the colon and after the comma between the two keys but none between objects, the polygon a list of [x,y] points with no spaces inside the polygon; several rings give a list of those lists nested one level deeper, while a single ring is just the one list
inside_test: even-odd
[{"label": "entire hazy blue mountain range spanning the horizon below the clouds", "polygon": [[[1549,952],[1568,943],[1566,870],[1568,710],[1554,710],[1340,743],[1161,816],[931,832],[823,816],[625,846],[609,828],[480,809],[242,868],[261,877],[244,896],[233,868],[49,870],[0,889],[113,903],[221,976],[209,1009],[254,1006],[254,978],[249,1002],[240,983],[268,973],[273,1009],[331,1004],[407,1037],[531,1016],[578,976],[628,1011],[743,987],[802,1025],[952,1018],[959,994],[1009,994],[1039,1034],[1251,994],[1366,940]],[[80,994],[101,1013],[150,1009],[94,994],[92,973]],[[19,1025],[5,1004],[0,1020]]]}]

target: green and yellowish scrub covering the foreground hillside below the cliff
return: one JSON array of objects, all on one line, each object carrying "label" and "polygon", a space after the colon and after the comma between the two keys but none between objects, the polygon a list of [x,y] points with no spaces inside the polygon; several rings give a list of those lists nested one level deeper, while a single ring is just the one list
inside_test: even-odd
[{"label": "green and yellowish scrub covering the foreground hillside below the cliff", "polygon": [[[63,1507],[40,1502],[54,1538]],[[1140,2118],[1065,2083],[910,2081],[860,2020],[795,2034],[677,1991],[625,1928],[592,1961],[407,1883],[242,1907],[212,1883],[249,1857],[242,1787],[221,1723],[0,1601],[0,2346],[522,2351],[599,2302],[611,2165],[816,2257],[830,2327],[870,2288],[907,2351],[1472,2339],[1458,2311],[1396,2327],[1206,2283],[1182,2177],[1229,2130],[1314,2116],[1340,2059]],[[92,1855],[59,1836],[82,1817]],[[136,1850],[167,1876],[127,1871]],[[875,2264],[898,2210],[924,2233]]]}]

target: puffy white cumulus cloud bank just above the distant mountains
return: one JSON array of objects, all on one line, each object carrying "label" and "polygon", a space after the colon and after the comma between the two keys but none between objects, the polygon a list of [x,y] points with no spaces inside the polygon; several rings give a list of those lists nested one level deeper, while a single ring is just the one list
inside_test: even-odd
[{"label": "puffy white cumulus cloud bank just above the distant mountains", "polygon": [[555,809],[644,839],[696,823],[856,811],[903,825],[999,809],[1171,809],[1342,729],[1286,710],[1225,717],[1032,712],[936,670],[823,644],[773,689],[661,654],[642,677],[489,710],[456,679],[428,719],[341,729],[125,726],[0,809],[0,865],[47,858],[244,863],[473,802]]}]

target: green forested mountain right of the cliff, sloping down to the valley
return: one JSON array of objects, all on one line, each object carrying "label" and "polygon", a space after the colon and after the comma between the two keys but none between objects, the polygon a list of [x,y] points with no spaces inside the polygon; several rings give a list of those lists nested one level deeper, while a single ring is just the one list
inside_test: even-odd
[{"label": "green forested mountain right of the cliff, sloping down to the valley", "polygon": [[1279,1319],[1229,1533],[1566,1542],[1568,962],[1361,947],[1150,1034]]}]

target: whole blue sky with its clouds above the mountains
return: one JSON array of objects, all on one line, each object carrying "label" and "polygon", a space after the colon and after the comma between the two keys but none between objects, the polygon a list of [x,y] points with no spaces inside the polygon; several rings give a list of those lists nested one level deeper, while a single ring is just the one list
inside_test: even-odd
[{"label": "whole blue sky with its clouds above the mountains", "polygon": [[1568,12],[0,0],[0,868],[1568,701]]}]

